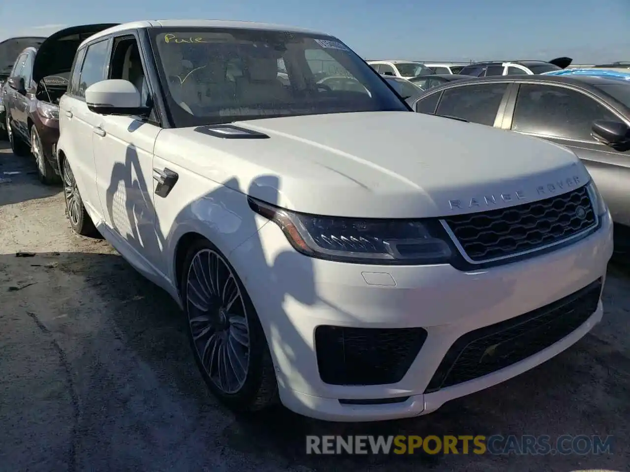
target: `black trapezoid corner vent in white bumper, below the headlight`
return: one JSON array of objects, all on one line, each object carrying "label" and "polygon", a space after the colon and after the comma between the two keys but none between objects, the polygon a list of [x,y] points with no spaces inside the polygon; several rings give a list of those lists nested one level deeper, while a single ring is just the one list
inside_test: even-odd
[{"label": "black trapezoid corner vent in white bumper, below the headlight", "polygon": [[318,326],[319,376],[331,385],[384,385],[403,379],[427,339],[422,328]]}]

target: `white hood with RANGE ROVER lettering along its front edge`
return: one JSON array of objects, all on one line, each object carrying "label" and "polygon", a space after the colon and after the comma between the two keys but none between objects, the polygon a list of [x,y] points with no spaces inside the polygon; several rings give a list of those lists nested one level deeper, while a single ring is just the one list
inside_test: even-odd
[{"label": "white hood with RANGE ROVER lettering along its front edge", "polygon": [[[232,125],[269,138],[219,138],[205,126],[163,130],[156,155],[290,210],[363,218],[520,205],[590,179],[575,154],[554,143],[409,111]],[[451,208],[456,200],[460,205]]]}]

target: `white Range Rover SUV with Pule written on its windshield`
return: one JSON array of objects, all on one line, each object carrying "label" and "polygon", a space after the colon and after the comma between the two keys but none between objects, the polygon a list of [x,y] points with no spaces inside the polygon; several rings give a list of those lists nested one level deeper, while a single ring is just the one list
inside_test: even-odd
[{"label": "white Range Rover SUV with Pule written on its windshield", "polygon": [[575,155],[413,113],[323,33],[104,30],[77,50],[57,159],[72,228],[180,303],[238,410],[429,413],[602,318],[610,215]]}]

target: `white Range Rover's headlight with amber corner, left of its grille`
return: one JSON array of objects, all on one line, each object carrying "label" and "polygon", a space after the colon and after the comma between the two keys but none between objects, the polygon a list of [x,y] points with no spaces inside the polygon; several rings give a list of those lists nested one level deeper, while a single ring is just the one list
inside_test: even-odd
[{"label": "white Range Rover's headlight with amber corner, left of its grille", "polygon": [[386,220],[296,213],[249,197],[295,250],[329,261],[376,265],[446,264],[452,255],[437,220]]}]

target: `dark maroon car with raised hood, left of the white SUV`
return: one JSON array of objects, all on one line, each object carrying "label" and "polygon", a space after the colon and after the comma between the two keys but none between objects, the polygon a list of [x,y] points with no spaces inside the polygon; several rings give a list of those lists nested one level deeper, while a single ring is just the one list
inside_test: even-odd
[{"label": "dark maroon car with raised hood, left of the white SUV", "polygon": [[81,42],[115,26],[72,26],[41,45],[23,50],[3,87],[6,128],[16,155],[33,154],[40,181],[59,180],[54,148],[59,139],[59,99],[66,93],[74,54]]}]

